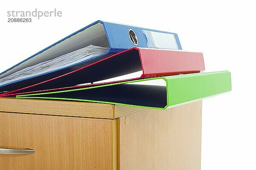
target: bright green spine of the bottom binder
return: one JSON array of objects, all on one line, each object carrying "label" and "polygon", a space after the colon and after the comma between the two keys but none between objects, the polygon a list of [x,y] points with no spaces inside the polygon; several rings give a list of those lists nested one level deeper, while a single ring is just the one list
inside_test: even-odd
[{"label": "bright green spine of the bottom binder", "polygon": [[167,82],[167,106],[198,101],[231,91],[229,71],[186,74],[165,77]]}]

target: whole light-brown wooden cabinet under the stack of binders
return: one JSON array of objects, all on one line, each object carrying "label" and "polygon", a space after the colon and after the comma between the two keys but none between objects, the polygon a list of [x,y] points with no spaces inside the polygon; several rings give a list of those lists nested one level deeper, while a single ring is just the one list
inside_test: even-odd
[{"label": "whole light-brown wooden cabinet under the stack of binders", "polygon": [[200,170],[201,101],[167,110],[0,98],[0,170]]}]

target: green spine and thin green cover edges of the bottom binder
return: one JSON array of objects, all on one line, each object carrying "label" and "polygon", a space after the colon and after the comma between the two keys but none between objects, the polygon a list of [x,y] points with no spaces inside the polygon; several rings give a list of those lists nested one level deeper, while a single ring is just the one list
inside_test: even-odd
[{"label": "green spine and thin green cover edges of the bottom binder", "polygon": [[[100,88],[110,85],[119,85],[130,82],[140,82],[152,79],[164,79],[166,81],[166,91],[167,91],[167,105],[164,108],[156,107],[147,107],[140,105],[129,105],[116,102],[104,102],[96,100],[87,100],[87,99],[70,99],[70,98],[56,98],[56,97],[37,97],[38,95],[43,94],[55,94],[63,93],[70,91],[79,91],[86,90],[90,88]],[[108,103],[114,105],[127,105],[135,106],[142,108],[154,108],[154,109],[166,109],[175,107],[177,105],[183,105],[189,102],[195,102],[201,99],[208,98],[210,96],[215,96],[225,92],[231,91],[231,74],[229,71],[216,71],[209,73],[193,73],[193,74],[184,74],[177,76],[168,76],[168,77],[154,77],[147,79],[137,79],[126,82],[117,82],[107,85],[99,85],[87,88],[79,88],[65,91],[54,91],[47,93],[38,93],[38,94],[24,94],[17,95],[16,98],[23,99],[61,99],[61,100],[75,100],[75,101],[84,101],[84,102],[99,102],[99,103]]]}]

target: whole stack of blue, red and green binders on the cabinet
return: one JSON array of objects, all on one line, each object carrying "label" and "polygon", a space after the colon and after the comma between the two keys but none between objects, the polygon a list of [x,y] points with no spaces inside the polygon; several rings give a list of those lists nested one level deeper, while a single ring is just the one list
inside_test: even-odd
[{"label": "whole stack of blue, red and green binders on the cabinet", "polygon": [[96,21],[0,74],[0,97],[166,109],[231,91],[177,34]]}]

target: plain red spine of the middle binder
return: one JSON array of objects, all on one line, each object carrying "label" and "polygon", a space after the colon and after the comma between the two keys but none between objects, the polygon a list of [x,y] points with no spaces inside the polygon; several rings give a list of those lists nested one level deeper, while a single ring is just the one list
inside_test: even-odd
[{"label": "plain red spine of the middle binder", "polygon": [[205,70],[202,53],[146,48],[139,48],[139,52],[143,77],[199,73]]}]

